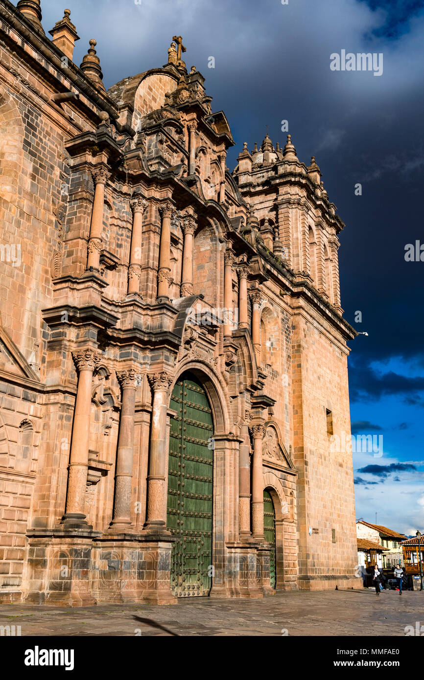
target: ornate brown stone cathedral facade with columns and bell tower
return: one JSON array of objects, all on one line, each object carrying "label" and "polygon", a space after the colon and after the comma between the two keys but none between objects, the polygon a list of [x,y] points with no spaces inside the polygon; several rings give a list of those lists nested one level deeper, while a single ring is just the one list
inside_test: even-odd
[{"label": "ornate brown stone cathedral facade with columns and bell tower", "polygon": [[106,91],[41,20],[0,3],[0,602],[358,587],[318,165],[266,135],[230,171],[180,36]]}]

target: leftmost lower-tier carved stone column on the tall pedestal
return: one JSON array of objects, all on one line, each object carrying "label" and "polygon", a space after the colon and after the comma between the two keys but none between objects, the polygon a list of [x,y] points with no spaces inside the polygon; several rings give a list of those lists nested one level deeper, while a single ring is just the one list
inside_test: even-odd
[{"label": "leftmost lower-tier carved stone column on the tall pedestal", "polygon": [[72,425],[66,511],[62,518],[62,524],[86,525],[85,492],[90,439],[91,390],[93,372],[101,361],[101,354],[97,354],[97,352],[88,348],[80,352],[73,352],[72,358],[79,375],[74,424]]}]

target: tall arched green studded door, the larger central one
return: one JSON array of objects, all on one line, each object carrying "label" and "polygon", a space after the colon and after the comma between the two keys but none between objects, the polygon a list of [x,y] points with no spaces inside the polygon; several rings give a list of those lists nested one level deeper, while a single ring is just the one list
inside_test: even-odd
[{"label": "tall arched green studded door, the larger central one", "polygon": [[167,527],[172,546],[171,590],[177,597],[208,595],[212,584],[213,422],[205,390],[184,373],[172,391]]}]

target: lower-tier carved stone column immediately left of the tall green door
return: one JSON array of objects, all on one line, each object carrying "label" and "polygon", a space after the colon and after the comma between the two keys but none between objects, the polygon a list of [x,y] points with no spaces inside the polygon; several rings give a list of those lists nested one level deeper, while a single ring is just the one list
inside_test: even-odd
[{"label": "lower-tier carved stone column immediately left of the tall green door", "polygon": [[167,480],[165,478],[168,456],[166,437],[167,392],[172,378],[165,372],[148,376],[153,390],[152,426],[150,430],[150,456],[148,468],[147,517],[144,530],[166,530]]}]

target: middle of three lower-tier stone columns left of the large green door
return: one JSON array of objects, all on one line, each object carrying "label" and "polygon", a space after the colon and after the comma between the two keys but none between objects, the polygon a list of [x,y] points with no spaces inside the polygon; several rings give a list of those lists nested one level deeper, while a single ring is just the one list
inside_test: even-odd
[{"label": "middle of three lower-tier stone columns left of the large green door", "polygon": [[110,527],[126,530],[131,526],[131,480],[134,455],[135,390],[140,374],[134,369],[116,373],[123,391],[120,408],[118,451],[116,454],[114,516]]}]

